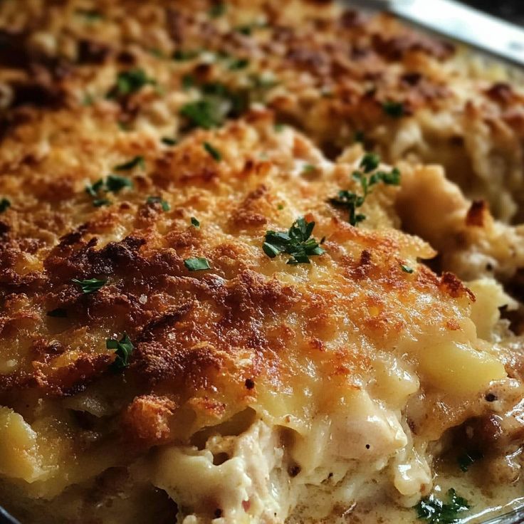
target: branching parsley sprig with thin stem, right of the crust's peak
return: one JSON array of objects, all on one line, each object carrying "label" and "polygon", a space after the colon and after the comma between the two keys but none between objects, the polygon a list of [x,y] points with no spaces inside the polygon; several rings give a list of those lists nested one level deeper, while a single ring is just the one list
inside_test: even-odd
[{"label": "branching parsley sprig with thin stem, right of the crust's peak", "polygon": [[362,194],[357,194],[347,189],[342,189],[337,196],[329,199],[332,206],[347,209],[349,216],[347,221],[352,226],[357,226],[366,219],[365,214],[357,213],[357,208],[361,207],[367,196],[371,193],[371,188],[379,182],[387,185],[398,186],[400,184],[400,172],[394,167],[392,171],[375,171],[379,167],[380,157],[374,153],[366,153],[360,162],[360,169],[353,172],[353,178],[360,182]]}]

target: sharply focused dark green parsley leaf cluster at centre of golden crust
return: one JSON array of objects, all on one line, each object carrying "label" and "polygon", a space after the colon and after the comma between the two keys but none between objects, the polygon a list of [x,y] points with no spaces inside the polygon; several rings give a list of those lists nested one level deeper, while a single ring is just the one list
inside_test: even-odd
[{"label": "sharply focused dark green parsley leaf cluster at centre of golden crust", "polygon": [[293,222],[288,232],[266,231],[266,237],[262,246],[263,252],[269,258],[275,258],[281,253],[290,255],[288,264],[308,264],[310,256],[318,256],[325,253],[320,243],[313,237],[315,222],[308,222],[303,217]]}]

